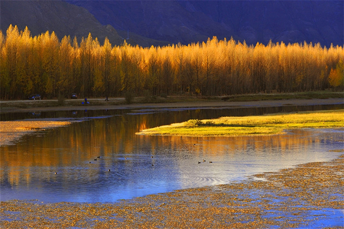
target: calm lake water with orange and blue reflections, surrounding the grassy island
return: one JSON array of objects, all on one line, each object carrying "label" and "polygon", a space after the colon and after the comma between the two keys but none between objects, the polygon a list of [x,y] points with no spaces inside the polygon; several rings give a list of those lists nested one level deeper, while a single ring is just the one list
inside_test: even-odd
[{"label": "calm lake water with orange and blue reflections, surrounding the grassy island", "polygon": [[0,197],[2,201],[114,202],[240,181],[256,173],[328,161],[342,154],[330,151],[343,148],[342,128],[255,137],[138,136],[135,133],[189,119],[333,108],[342,105],[2,114],[2,121],[69,119],[75,122],[0,147]]}]

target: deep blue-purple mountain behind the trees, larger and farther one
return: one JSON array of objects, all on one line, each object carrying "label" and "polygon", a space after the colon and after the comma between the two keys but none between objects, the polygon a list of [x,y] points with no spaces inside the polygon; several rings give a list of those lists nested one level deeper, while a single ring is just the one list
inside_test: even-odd
[{"label": "deep blue-purple mountain behind the trees, larger and farther one", "polygon": [[68,1],[103,25],[172,43],[231,36],[261,42],[344,44],[344,1]]}]

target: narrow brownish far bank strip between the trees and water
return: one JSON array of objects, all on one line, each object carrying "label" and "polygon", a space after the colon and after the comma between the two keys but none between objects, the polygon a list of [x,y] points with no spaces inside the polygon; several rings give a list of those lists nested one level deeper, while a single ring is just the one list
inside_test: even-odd
[{"label": "narrow brownish far bank strip between the trees and water", "polygon": [[325,104],[344,104],[342,98],[329,99],[286,99],[286,100],[263,100],[263,101],[211,101],[203,102],[174,102],[174,103],[135,103],[119,105],[92,105],[85,106],[55,106],[55,107],[30,107],[2,108],[2,113],[8,112],[35,112],[35,111],[54,111],[54,110],[96,110],[96,109],[136,109],[136,108],[173,108],[173,107],[273,107],[273,106],[301,106],[301,105],[325,105]]}]

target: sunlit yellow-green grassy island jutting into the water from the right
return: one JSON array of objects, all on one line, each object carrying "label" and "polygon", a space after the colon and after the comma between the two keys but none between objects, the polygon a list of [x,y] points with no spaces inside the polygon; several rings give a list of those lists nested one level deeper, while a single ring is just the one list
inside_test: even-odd
[{"label": "sunlit yellow-green grassy island jutting into the water from the right", "polygon": [[263,116],[189,120],[143,130],[139,135],[242,136],[281,134],[286,129],[344,127],[344,110],[275,113]]}]

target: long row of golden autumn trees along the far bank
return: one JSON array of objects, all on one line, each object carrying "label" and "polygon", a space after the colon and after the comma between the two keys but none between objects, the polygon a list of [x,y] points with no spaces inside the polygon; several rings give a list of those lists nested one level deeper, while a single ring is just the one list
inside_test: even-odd
[{"label": "long row of golden autumn trees along the far bank", "polygon": [[1,98],[202,94],[343,89],[342,47],[256,44],[233,39],[142,48],[101,45],[92,35],[78,43],[28,28],[0,31]]}]

